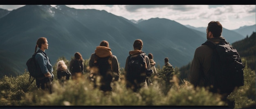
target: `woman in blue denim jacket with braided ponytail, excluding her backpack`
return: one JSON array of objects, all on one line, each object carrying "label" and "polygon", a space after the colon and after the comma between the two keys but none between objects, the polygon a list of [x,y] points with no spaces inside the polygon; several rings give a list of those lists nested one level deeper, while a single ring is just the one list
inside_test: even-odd
[{"label": "woman in blue denim jacket with braided ponytail, excluding her backpack", "polygon": [[[38,88],[49,90],[52,93],[52,81],[54,79],[52,64],[49,57],[47,57],[45,50],[48,49],[48,41],[45,37],[40,37],[36,42],[35,59],[40,66],[41,73],[44,76],[36,78],[36,85]],[[38,51],[36,51],[38,49]]]}]

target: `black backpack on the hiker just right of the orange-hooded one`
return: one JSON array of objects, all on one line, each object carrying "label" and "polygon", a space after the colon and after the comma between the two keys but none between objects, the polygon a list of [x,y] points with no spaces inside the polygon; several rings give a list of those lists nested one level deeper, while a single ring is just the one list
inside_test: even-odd
[{"label": "black backpack on the hiker just right of the orange-hooded one", "polygon": [[137,56],[130,55],[128,57],[128,72],[126,78],[129,81],[137,80],[138,83],[145,81],[146,76],[152,75],[151,69],[146,69],[146,61],[144,59],[145,53],[138,54]]}]

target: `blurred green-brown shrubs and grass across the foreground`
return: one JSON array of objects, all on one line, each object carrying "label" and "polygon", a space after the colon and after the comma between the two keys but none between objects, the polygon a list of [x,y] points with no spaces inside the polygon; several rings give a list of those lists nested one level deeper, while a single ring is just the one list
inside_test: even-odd
[{"label": "blurred green-brown shrubs and grass across the foreground", "polygon": [[[67,65],[69,61],[64,57]],[[85,60],[85,68],[88,68],[88,60]],[[246,61],[243,60],[246,64]],[[246,65],[247,66],[247,65]],[[225,102],[220,100],[218,94],[208,92],[204,88],[196,87],[181,79],[178,68],[175,68],[171,76],[166,76],[166,68],[157,67],[159,75],[153,75],[153,85],[149,88],[140,89],[135,93],[126,89],[124,81],[124,68],[121,68],[120,79],[112,84],[113,90],[103,93],[94,89],[93,85],[86,78],[88,69],[78,80],[69,80],[64,86],[59,84],[54,66],[54,92],[49,94],[46,91],[37,89],[36,81],[29,82],[29,72],[17,77],[0,79],[0,105],[171,105],[171,106],[223,106]],[[255,70],[246,67],[244,69],[245,85],[234,90],[229,99],[236,102],[235,108],[255,107]]]}]

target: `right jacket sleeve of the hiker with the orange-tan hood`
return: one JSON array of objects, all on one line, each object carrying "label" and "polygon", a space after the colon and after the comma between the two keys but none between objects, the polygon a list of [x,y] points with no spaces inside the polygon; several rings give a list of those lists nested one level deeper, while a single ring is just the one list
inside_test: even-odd
[{"label": "right jacket sleeve of the hiker with the orange-tan hood", "polygon": [[112,71],[114,73],[115,81],[119,79],[119,63],[116,56],[112,58]]}]

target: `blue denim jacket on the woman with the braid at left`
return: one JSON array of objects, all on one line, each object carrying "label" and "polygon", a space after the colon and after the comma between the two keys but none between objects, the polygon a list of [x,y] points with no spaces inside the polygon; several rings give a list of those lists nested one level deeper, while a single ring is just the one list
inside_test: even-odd
[{"label": "blue denim jacket on the woman with the braid at left", "polygon": [[40,50],[40,52],[36,54],[35,59],[38,62],[43,74],[46,74],[47,72],[50,72],[52,74],[53,72],[52,64],[50,63],[49,57],[47,57],[45,52]]}]

